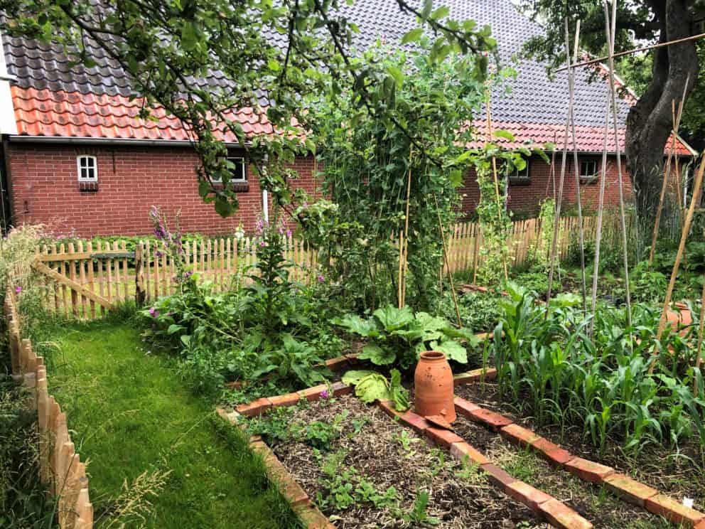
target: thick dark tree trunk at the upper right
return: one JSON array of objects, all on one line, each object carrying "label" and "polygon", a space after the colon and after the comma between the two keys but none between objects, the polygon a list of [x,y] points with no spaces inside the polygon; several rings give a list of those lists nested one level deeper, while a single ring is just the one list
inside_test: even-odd
[{"label": "thick dark tree trunk at the upper right", "polygon": [[[687,0],[649,2],[660,21],[660,42],[673,41],[691,34],[692,15]],[[654,50],[653,78],[627,117],[625,151],[632,175],[637,213],[642,219],[656,213],[663,178],[664,147],[672,129],[672,101],[676,106],[698,77],[698,56],[694,41]]]}]

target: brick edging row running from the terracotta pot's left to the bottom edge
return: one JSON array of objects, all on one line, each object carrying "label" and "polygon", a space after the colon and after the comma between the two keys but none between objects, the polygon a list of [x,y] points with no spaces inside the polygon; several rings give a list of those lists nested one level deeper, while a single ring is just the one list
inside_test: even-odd
[{"label": "brick edging row running from the terracotta pot's left to the bottom edge", "polygon": [[[479,371],[479,370],[478,370]],[[394,420],[404,423],[414,429],[419,435],[426,437],[439,447],[450,451],[451,456],[463,460],[465,457],[473,464],[479,466],[480,470],[487,474],[488,479],[502,491],[516,501],[523,503],[539,518],[544,518],[551,525],[561,529],[590,529],[593,524],[576,513],[565,503],[549,496],[544,491],[534,488],[528,483],[524,483],[507,474],[499,466],[492,464],[478,449],[468,444],[455,432],[447,429],[431,426],[421,415],[417,415],[411,410],[398,412],[394,408],[394,402],[377,401],[377,405]],[[700,528],[698,528],[700,529]]]}]

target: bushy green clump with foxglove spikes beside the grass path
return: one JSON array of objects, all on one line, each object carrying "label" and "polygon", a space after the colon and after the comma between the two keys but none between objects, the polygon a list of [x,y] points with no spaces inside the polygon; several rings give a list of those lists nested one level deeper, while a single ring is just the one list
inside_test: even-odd
[{"label": "bushy green clump with foxglove spikes beside the grass path", "polygon": [[[164,251],[178,260],[181,238],[164,224],[157,228],[168,243]],[[319,364],[342,348],[325,320],[331,315],[321,287],[304,287],[289,277],[284,226],[259,221],[258,233],[249,284],[213,292],[210,283],[199,283],[198,274],[177,267],[178,292],[141,312],[145,338],[181,354],[181,372],[198,392],[215,396],[224,380],[263,375],[285,385],[314,385],[330,374]]]}]

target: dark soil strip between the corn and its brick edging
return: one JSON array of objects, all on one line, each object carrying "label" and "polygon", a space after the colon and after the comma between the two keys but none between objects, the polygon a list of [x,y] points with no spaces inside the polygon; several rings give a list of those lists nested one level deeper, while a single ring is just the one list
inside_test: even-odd
[{"label": "dark soil strip between the corn and its brick edging", "polygon": [[[694,508],[699,511],[705,510],[705,471],[699,469],[694,462],[700,461],[701,457],[696,442],[680,447],[677,453],[674,453],[674,450],[668,445],[650,446],[636,457],[626,455],[618,442],[608,442],[604,454],[600,456],[596,447],[590,444],[588,439],[583,438],[581,426],[566,426],[561,432],[559,425],[537,424],[530,410],[522,411],[507,402],[502,402],[498,386],[495,383],[485,383],[484,386],[480,383],[460,385],[456,387],[455,392],[459,397],[510,417],[517,424],[522,424],[550,441],[560,444],[561,447],[576,456],[612,466],[614,469],[630,475],[633,479],[657,488],[660,493],[667,494],[679,501],[684,496],[693,498]],[[470,444],[481,451],[484,449],[483,443],[485,447],[491,447],[493,441],[486,436],[488,430],[473,423],[469,423],[469,427],[473,428],[471,435],[477,435],[476,438],[467,439]],[[458,426],[458,428],[460,427]],[[485,433],[479,432],[479,430],[483,430]],[[490,436],[493,435],[491,432],[489,433]],[[463,435],[461,432],[458,434]],[[581,512],[577,508],[576,510]],[[586,518],[594,522],[589,516]]]}]

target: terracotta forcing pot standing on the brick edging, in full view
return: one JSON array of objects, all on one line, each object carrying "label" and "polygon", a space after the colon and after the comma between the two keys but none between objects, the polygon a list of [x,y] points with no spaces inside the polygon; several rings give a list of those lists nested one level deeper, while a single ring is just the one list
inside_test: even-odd
[{"label": "terracotta forcing pot standing on the brick edging, in full view", "polygon": [[447,422],[456,420],[453,372],[440,351],[421,353],[414,371],[414,407],[424,417],[441,415]]}]

